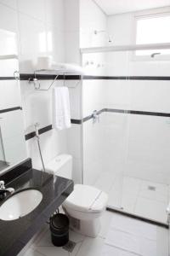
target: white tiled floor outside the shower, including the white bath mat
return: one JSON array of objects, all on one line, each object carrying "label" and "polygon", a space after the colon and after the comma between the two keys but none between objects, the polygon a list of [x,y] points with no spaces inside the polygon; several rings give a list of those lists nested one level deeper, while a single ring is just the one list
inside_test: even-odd
[{"label": "white tiled floor outside the shower, including the white bath mat", "polygon": [[18,256],[167,256],[168,230],[146,224],[113,212],[101,218],[97,238],[79,235],[73,231],[70,240],[76,242],[72,253],[54,247],[48,225],[33,237]]}]

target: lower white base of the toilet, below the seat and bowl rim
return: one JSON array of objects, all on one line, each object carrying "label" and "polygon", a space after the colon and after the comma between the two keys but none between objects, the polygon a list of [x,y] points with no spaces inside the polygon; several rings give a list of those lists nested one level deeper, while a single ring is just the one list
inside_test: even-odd
[{"label": "lower white base of the toilet, below the seat and bowl rim", "polygon": [[70,228],[71,230],[76,231],[79,234],[84,236],[96,237],[99,234],[100,230],[100,219],[94,218],[93,220],[83,220],[72,218],[69,216],[70,219]]}]

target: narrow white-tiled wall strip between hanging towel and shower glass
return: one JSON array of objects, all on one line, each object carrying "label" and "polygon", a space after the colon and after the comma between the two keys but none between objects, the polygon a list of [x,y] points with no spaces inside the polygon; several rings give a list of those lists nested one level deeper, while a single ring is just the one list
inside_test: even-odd
[{"label": "narrow white-tiled wall strip between hanging towel and shower glass", "polygon": [[[65,62],[81,65],[80,1],[64,0]],[[82,81],[66,81],[71,97],[71,119],[82,119]],[[71,124],[67,131],[68,153],[73,156],[73,180],[82,183],[82,125]]]}]

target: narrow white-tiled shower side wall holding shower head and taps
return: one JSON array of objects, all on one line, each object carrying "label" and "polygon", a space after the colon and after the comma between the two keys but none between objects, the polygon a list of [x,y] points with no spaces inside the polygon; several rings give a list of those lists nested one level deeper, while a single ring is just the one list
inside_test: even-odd
[{"label": "narrow white-tiled shower side wall holding shower head and taps", "polygon": [[[105,33],[94,34],[94,31],[106,31],[106,15],[92,0],[80,0],[80,46],[81,48],[98,47],[107,44]],[[105,55],[82,55],[82,66],[88,75],[105,74]],[[94,110],[104,108],[105,84],[99,80],[82,82],[82,117],[91,115]],[[103,116],[105,113],[102,113]],[[93,124],[92,119],[83,123],[83,182],[94,184],[102,172],[103,136],[102,119]]]}]

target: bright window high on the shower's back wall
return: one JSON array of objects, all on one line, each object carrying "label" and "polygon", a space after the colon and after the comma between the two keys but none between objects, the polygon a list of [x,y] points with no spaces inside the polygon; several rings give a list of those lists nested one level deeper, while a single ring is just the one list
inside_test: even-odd
[{"label": "bright window high on the shower's back wall", "polygon": [[[170,13],[136,17],[136,44],[170,43]],[[170,59],[170,49],[138,50],[136,57]]]}]

